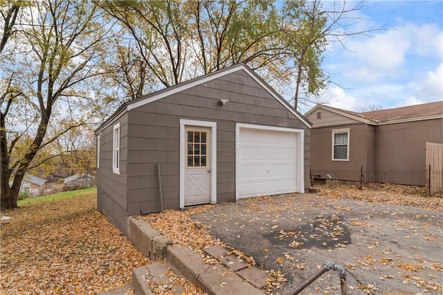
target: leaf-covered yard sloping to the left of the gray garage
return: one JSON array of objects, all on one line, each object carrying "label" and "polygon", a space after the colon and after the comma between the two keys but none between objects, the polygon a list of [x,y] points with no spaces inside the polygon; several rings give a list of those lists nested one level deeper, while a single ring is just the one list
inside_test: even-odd
[{"label": "leaf-covered yard sloping to the left of the gray garage", "polygon": [[147,264],[96,211],[96,191],[24,204],[1,225],[1,294],[97,294],[132,280]]}]

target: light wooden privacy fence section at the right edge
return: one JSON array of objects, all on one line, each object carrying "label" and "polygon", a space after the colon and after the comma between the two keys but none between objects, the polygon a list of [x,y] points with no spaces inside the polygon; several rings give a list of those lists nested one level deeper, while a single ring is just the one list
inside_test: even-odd
[{"label": "light wooden privacy fence section at the right edge", "polygon": [[443,144],[426,143],[426,193],[434,195],[443,190]]}]

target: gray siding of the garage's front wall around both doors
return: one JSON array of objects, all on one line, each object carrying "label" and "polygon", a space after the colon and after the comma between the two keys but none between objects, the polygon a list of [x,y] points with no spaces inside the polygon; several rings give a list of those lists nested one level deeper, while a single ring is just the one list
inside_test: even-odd
[{"label": "gray siding of the garage's front wall around both doors", "polygon": [[[226,105],[218,105],[228,99]],[[179,122],[217,123],[217,202],[235,201],[235,123],[305,129],[305,188],[309,188],[310,130],[238,71],[129,111],[128,215],[160,210],[156,163],[165,209],[179,208]],[[131,185],[129,185],[131,184]]]}]

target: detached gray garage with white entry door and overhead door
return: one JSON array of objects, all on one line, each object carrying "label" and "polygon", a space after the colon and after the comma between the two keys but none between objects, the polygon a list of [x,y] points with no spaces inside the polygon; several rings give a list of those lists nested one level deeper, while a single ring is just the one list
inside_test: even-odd
[{"label": "detached gray garage with white entry door and overhead door", "polygon": [[244,64],[132,100],[96,129],[98,210],[127,233],[130,215],[304,193],[310,127]]}]

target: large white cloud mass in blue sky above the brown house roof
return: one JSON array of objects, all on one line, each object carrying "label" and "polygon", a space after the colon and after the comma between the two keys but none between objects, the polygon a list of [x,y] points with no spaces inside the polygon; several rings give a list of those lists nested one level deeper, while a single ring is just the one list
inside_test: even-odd
[{"label": "large white cloud mass in blue sky above the brown house roof", "polygon": [[332,107],[361,111],[370,105],[387,109],[443,99],[439,24],[397,19],[395,30],[371,35],[347,40],[348,51],[339,51],[336,44],[328,47],[325,69],[345,89],[331,84],[322,100],[329,100]]}]

